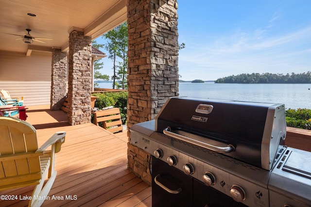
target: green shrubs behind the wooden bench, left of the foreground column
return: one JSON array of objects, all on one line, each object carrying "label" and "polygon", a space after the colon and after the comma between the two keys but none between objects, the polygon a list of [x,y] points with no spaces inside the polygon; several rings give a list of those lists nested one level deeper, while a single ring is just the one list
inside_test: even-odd
[{"label": "green shrubs behind the wooden bench, left of the foreground column", "polygon": [[92,94],[92,96],[97,96],[95,107],[99,109],[109,106],[119,108],[122,124],[125,124],[127,120],[127,95],[125,91]]}]

